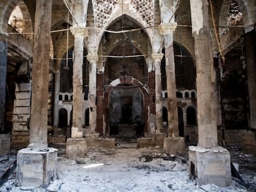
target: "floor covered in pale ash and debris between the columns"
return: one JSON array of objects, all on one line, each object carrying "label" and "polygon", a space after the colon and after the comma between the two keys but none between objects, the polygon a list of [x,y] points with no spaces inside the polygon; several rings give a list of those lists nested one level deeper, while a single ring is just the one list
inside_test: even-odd
[{"label": "floor covered in pale ash and debris between the columns", "polygon": [[[233,177],[232,185],[197,185],[189,178],[187,154],[164,158],[160,148],[137,149],[134,143],[122,143],[116,149],[88,149],[83,159],[66,159],[58,154],[58,180],[48,188],[15,186],[15,172],[0,191],[256,191],[256,158],[243,154],[239,146],[229,147],[231,160],[239,164],[244,180]],[[149,157],[149,158],[147,158]],[[15,154],[1,156],[1,170],[14,161]]]}]

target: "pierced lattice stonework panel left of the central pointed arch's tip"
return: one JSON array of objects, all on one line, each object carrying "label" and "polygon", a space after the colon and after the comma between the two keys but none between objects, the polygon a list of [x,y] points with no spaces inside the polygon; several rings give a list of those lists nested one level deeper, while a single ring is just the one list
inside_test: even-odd
[{"label": "pierced lattice stonework panel left of the central pointed arch's tip", "polygon": [[118,0],[95,0],[95,23],[96,27],[101,28],[109,19]]}]

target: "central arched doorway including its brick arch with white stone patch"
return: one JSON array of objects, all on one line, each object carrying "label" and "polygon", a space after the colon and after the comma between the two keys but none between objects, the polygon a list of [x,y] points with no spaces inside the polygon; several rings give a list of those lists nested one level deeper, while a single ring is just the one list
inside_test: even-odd
[{"label": "central arched doorway including its brick arch with white stone patch", "polygon": [[[124,78],[126,84],[124,84]],[[105,91],[106,133],[114,138],[137,138],[147,132],[148,93],[130,76],[114,80]],[[147,123],[146,123],[147,124]]]}]

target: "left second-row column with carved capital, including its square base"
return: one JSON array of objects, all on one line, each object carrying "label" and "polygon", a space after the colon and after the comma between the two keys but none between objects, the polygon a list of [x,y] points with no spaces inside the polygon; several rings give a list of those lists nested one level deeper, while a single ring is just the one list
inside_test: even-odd
[{"label": "left second-row column with carved capital, including its square base", "polygon": [[72,27],[75,37],[73,62],[73,121],[71,138],[66,143],[67,157],[70,159],[83,158],[87,149],[87,141],[83,138],[83,40],[88,36],[87,28]]}]

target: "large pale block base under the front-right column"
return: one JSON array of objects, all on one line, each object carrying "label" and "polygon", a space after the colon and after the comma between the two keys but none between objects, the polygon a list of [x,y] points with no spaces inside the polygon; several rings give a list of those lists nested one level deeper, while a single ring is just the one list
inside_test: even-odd
[{"label": "large pale block base under the front-right column", "polygon": [[199,185],[231,185],[229,151],[219,146],[210,149],[189,146],[189,174],[197,177]]}]

